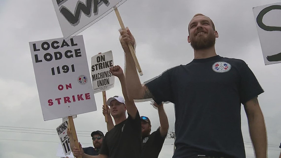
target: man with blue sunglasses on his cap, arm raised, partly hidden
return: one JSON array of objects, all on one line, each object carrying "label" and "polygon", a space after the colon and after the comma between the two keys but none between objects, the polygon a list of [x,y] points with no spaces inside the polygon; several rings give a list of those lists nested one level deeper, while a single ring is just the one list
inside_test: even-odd
[{"label": "man with blue sunglasses on his cap, arm raised, partly hidden", "polygon": [[160,105],[154,103],[154,106],[158,109],[158,115],[160,120],[160,127],[155,131],[151,132],[151,122],[148,117],[141,116],[141,127],[142,127],[142,152],[141,158],[157,158],[165,138],[167,136],[169,123],[167,115],[164,111],[163,104]]}]

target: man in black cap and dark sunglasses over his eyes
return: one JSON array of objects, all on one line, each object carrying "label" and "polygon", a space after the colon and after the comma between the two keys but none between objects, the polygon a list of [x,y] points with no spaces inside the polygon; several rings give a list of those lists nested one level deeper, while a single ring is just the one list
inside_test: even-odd
[{"label": "man in black cap and dark sunglasses over his eyes", "polygon": [[[69,128],[67,129],[67,135],[69,136],[70,147],[71,147],[71,150],[73,151],[73,147],[75,146],[75,144],[74,144],[74,139],[71,134],[71,130]],[[104,134],[103,134],[103,132],[97,130],[97,131],[94,131],[91,133],[91,137],[93,140],[94,148],[92,146],[83,148],[83,152],[87,155],[93,155],[93,156],[99,155],[99,149],[101,148]]]}]

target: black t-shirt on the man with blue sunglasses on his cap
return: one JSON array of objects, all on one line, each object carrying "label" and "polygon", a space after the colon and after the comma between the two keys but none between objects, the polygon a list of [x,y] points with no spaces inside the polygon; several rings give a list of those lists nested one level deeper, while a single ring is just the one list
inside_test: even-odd
[{"label": "black t-shirt on the man with blue sunglasses on his cap", "polygon": [[151,133],[147,137],[142,138],[142,152],[140,154],[141,158],[157,158],[163,143],[165,141],[165,137],[162,137],[160,134],[160,128],[158,128],[155,132]]}]

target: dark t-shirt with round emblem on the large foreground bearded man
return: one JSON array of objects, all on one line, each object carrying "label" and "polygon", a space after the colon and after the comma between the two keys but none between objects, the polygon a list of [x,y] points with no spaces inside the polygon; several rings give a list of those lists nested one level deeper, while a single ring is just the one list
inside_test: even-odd
[{"label": "dark t-shirt with round emblem on the large foreground bearded man", "polygon": [[245,158],[241,103],[261,94],[255,75],[239,59],[194,59],[146,84],[156,103],[175,104],[173,158],[214,155]]}]

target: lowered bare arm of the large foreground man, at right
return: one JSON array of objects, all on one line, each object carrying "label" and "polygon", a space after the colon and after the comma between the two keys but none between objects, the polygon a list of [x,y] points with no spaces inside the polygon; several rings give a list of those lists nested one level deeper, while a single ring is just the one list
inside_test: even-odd
[{"label": "lowered bare arm of the large foreground man, at right", "polygon": [[244,104],[244,109],[248,118],[255,155],[257,158],[265,158],[267,156],[266,127],[257,97],[247,101]]}]

